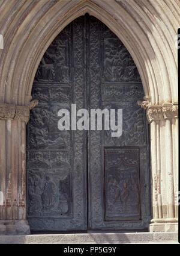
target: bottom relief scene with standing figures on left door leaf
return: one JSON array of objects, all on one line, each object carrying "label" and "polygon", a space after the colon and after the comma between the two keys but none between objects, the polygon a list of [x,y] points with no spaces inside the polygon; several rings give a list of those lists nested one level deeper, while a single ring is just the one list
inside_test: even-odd
[{"label": "bottom relief scene with standing figures on left door leaf", "polygon": [[70,175],[62,175],[56,180],[56,175],[44,175],[35,173],[28,177],[28,214],[29,216],[54,217],[70,216]]}]

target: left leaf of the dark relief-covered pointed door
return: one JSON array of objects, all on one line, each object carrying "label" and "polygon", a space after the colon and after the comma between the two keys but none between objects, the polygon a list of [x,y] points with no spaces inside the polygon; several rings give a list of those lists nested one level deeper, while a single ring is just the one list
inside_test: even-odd
[{"label": "left leaf of the dark relief-covered pointed door", "polygon": [[27,127],[28,221],[33,231],[86,230],[84,131],[59,131],[58,111],[85,105],[84,18],[68,25],[38,67]]}]

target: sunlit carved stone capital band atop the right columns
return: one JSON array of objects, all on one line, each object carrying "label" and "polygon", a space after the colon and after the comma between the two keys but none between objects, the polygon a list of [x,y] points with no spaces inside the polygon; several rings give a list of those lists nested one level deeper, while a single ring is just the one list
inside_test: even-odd
[{"label": "sunlit carved stone capital band atop the right columns", "polygon": [[178,118],[178,102],[164,103],[162,105],[151,105],[148,101],[137,101],[144,110],[148,122]]}]

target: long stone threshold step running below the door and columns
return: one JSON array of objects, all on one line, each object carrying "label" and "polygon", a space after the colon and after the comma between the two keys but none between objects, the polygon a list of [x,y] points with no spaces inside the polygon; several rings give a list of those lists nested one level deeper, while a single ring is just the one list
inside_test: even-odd
[{"label": "long stone threshold step running below the door and columns", "polygon": [[21,236],[0,236],[3,244],[33,243],[178,243],[178,233],[83,233],[83,234],[35,234]]}]

